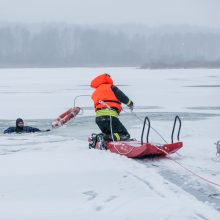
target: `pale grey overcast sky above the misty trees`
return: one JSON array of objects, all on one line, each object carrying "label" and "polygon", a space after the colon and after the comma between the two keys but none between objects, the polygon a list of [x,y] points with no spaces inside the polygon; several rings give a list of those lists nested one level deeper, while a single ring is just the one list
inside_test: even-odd
[{"label": "pale grey overcast sky above the misty trees", "polygon": [[220,27],[220,0],[0,0],[0,21]]}]

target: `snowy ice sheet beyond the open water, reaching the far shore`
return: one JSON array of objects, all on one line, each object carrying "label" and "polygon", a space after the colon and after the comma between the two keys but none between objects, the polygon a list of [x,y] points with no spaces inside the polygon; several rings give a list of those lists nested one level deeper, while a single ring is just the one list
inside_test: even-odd
[{"label": "snowy ice sheet beyond the open water, reaching the far shore", "polygon": [[[73,106],[74,97],[91,95],[90,81],[103,72],[134,100],[137,110],[219,113],[219,70],[0,69],[0,119],[19,115],[26,119],[54,118]],[[76,104],[92,107],[86,96]]]}]

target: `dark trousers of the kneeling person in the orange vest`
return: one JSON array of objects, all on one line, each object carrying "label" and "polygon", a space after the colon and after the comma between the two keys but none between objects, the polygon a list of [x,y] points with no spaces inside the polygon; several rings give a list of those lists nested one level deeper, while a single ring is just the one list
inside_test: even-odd
[{"label": "dark trousers of the kneeling person in the orange vest", "polygon": [[110,116],[98,116],[96,117],[96,124],[99,126],[102,133],[104,133],[104,139],[112,140],[110,120],[112,120],[114,141],[128,140],[130,138],[130,134],[118,118]]}]

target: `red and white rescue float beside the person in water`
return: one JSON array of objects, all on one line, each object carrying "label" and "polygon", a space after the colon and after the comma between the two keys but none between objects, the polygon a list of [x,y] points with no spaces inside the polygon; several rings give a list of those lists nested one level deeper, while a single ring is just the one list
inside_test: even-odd
[{"label": "red and white rescue float beside the person in water", "polygon": [[59,115],[58,118],[53,120],[52,125],[51,125],[52,128],[58,128],[62,125],[67,124],[73,118],[75,118],[79,112],[80,112],[79,107],[70,108],[68,111],[64,112],[63,114]]}]

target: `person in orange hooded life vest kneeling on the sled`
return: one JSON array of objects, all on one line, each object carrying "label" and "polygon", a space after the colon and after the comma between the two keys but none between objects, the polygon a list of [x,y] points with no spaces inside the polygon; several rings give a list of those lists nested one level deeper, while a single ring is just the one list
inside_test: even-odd
[{"label": "person in orange hooded life vest kneeling on the sled", "polygon": [[127,105],[132,111],[133,102],[114,85],[111,76],[106,73],[94,78],[90,86],[95,89],[91,97],[96,112],[96,124],[104,134],[104,140],[111,141],[112,132],[114,141],[130,139],[130,134],[118,116],[122,110],[121,103]]}]

